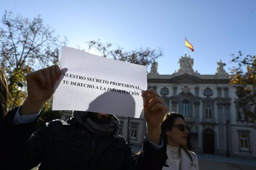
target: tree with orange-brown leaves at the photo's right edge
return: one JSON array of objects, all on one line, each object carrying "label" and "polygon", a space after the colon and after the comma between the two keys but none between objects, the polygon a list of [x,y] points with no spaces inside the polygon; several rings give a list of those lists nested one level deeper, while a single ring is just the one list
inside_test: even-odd
[{"label": "tree with orange-brown leaves at the photo's right edge", "polygon": [[[234,55],[233,55],[234,56]],[[255,125],[256,122],[256,56],[244,56],[241,51],[232,59],[237,67],[231,69],[230,84],[236,88],[239,116]],[[241,118],[241,117],[240,117]]]}]

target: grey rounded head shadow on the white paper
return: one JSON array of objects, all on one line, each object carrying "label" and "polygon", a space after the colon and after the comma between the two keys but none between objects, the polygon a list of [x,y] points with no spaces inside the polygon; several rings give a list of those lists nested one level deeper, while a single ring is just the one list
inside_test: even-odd
[{"label": "grey rounded head shadow on the white paper", "polygon": [[129,94],[108,91],[93,100],[87,111],[134,117],[135,101]]}]

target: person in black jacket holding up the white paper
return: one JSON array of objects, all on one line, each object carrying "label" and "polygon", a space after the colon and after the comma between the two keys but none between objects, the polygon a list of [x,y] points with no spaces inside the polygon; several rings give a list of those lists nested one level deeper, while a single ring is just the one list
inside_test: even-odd
[{"label": "person in black jacket holding up the white paper", "polygon": [[33,133],[60,74],[54,65],[27,75],[28,96],[22,106],[7,114],[3,124],[3,150],[13,153],[4,160],[4,169],[32,169],[38,164],[41,170],[162,169],[167,156],[160,124],[168,108],[153,89],[142,91],[147,134],[139,156],[116,134],[118,119],[105,113],[74,111],[69,120],[52,120]]}]

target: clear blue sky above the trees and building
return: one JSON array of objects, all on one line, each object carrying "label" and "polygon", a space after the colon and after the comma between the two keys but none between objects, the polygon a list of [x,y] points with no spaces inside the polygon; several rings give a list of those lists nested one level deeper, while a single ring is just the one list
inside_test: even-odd
[{"label": "clear blue sky above the trees and building", "polygon": [[5,10],[24,17],[40,14],[68,47],[101,39],[125,50],[161,47],[160,74],[179,69],[185,35],[194,46],[193,69],[215,74],[219,59],[232,67],[231,54],[256,55],[256,0],[0,0]]}]

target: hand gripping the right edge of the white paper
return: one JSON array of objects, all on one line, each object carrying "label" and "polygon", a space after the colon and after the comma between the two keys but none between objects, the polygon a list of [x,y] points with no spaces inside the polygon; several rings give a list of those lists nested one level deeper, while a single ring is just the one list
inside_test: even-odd
[{"label": "hand gripping the right edge of the white paper", "polygon": [[141,96],[143,97],[143,115],[147,126],[159,128],[168,110],[164,99],[154,89],[142,92]]}]

